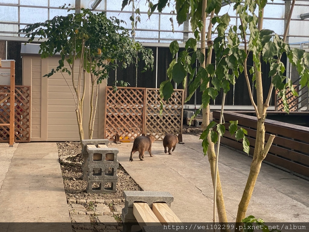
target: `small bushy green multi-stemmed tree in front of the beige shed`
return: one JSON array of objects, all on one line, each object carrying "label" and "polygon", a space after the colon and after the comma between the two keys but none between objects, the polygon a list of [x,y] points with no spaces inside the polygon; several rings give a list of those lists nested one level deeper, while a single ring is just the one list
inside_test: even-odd
[{"label": "small bushy green multi-stemmed tree in front of the beige shed", "polygon": [[[62,6],[64,8],[65,6]],[[69,9],[68,11],[70,11]],[[143,71],[153,69],[154,57],[151,49],[145,49],[138,42],[132,41],[129,32],[120,26],[124,23],[115,17],[107,19],[104,13],[93,14],[88,9],[82,9],[82,13],[73,13],[67,16],[56,16],[44,23],[27,25],[20,30],[26,32],[30,38],[39,40],[46,38],[40,44],[42,58],[60,54],[59,66],[52,69],[47,77],[56,72],[68,73],[72,77],[72,92],[76,104],[75,112],[78,124],[80,140],[84,139],[83,130],[83,101],[87,73],[91,80],[90,117],[88,124],[88,136],[91,139],[98,101],[99,84],[108,78],[111,70],[115,70],[118,64],[125,68],[131,63],[136,63],[142,58],[145,62]],[[65,67],[66,63],[69,68]],[[78,69],[78,76],[75,70]],[[83,82],[83,87],[82,87]],[[124,83],[126,84],[126,83]],[[96,87],[96,98],[93,104]],[[74,93],[73,93],[74,92]]]}]

